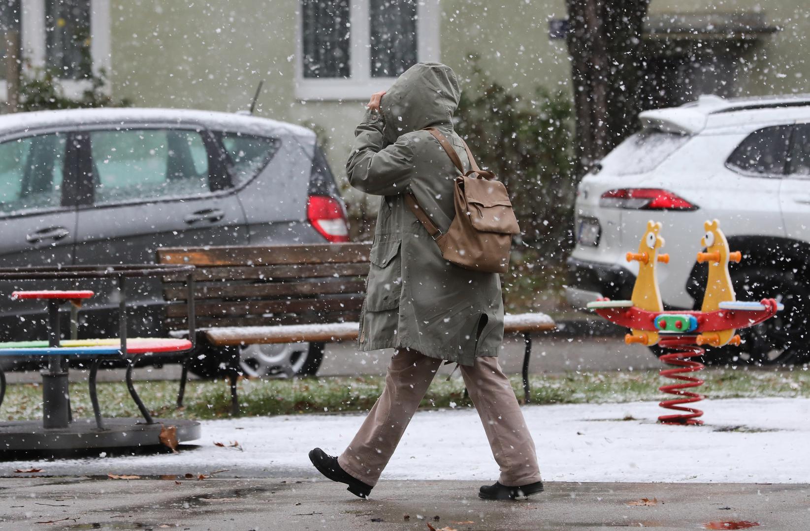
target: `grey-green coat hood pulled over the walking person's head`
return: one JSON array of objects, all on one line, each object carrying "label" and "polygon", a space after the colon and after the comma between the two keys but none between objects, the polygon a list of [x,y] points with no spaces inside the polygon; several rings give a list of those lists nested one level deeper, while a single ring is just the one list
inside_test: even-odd
[{"label": "grey-green coat hood pulled over the walking person's head", "polygon": [[450,66],[441,63],[416,63],[397,78],[380,108],[386,141],[393,144],[405,133],[426,127],[452,127],[458,107],[458,79]]}]

